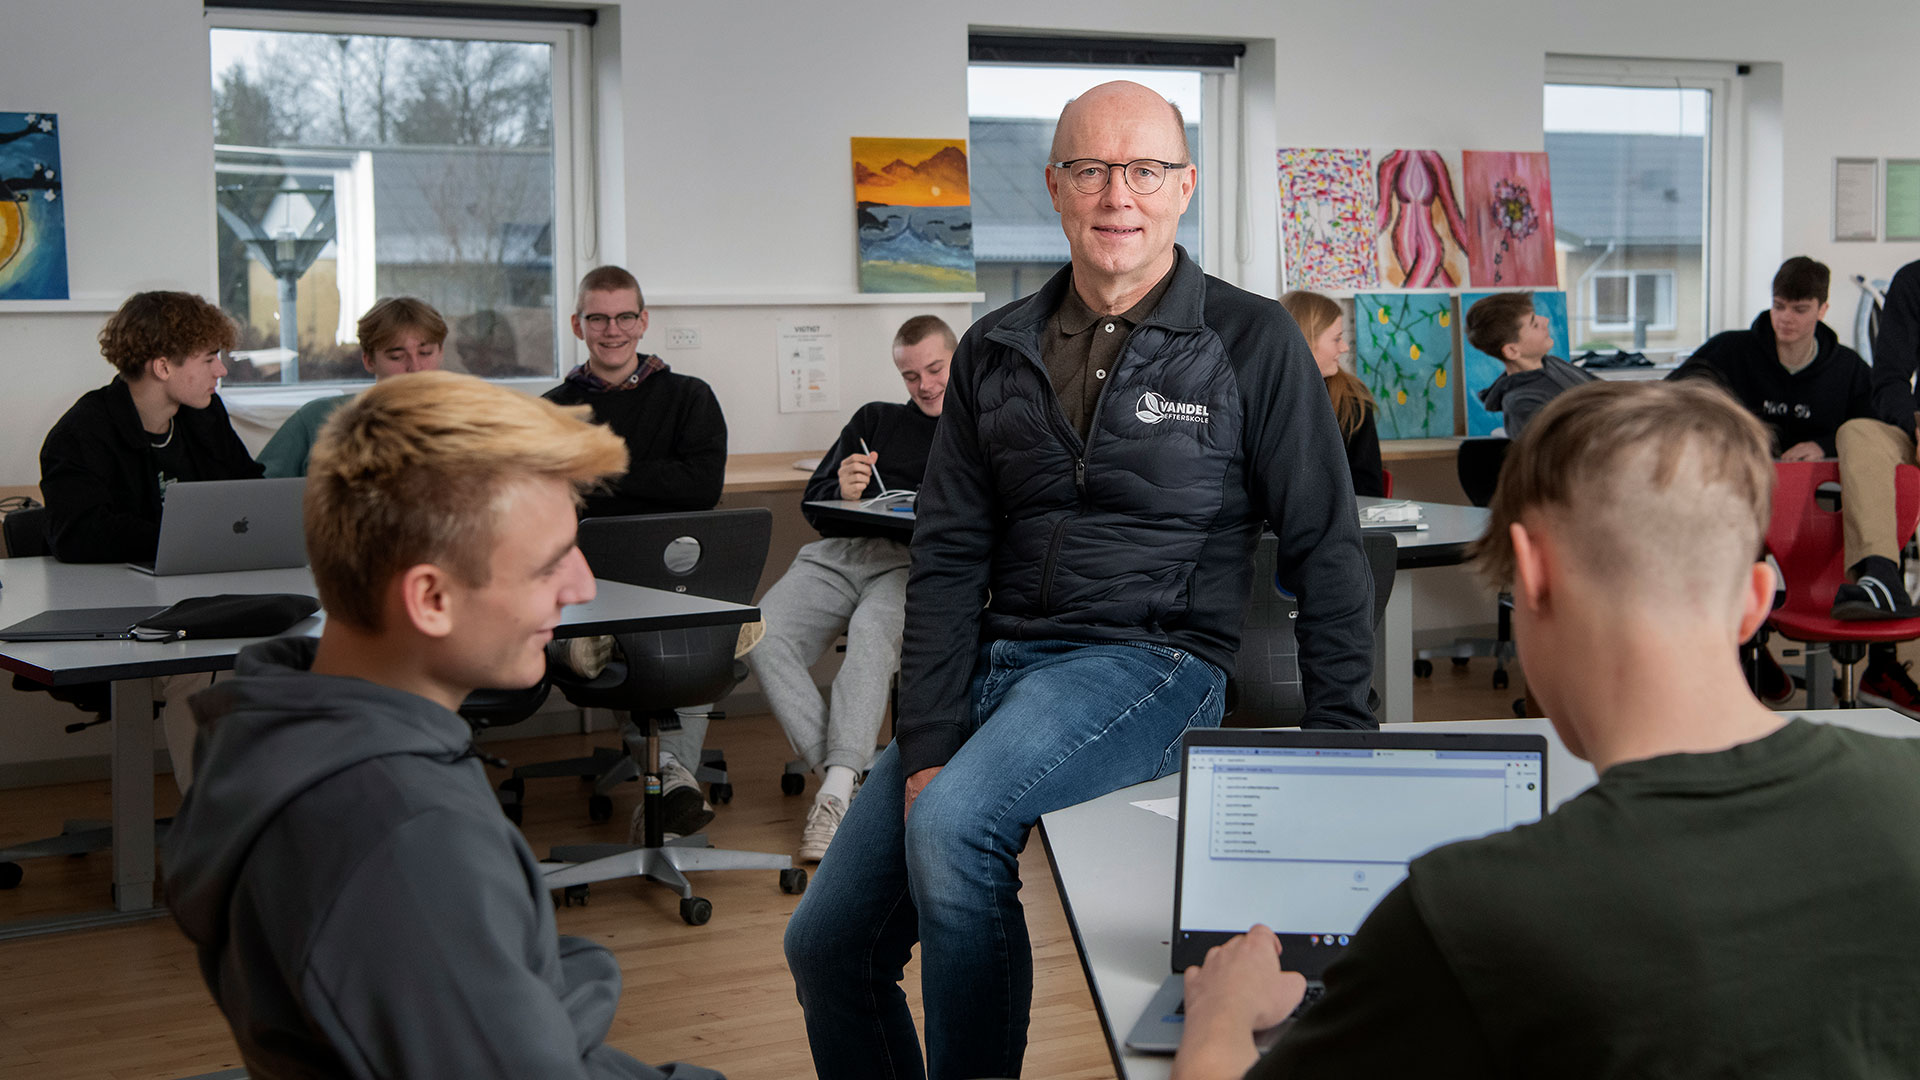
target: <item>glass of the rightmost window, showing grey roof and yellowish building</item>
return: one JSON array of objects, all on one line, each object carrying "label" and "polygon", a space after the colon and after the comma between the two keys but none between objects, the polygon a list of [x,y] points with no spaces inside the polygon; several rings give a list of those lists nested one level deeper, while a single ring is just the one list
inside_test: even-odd
[{"label": "glass of the rightmost window, showing grey roof and yellowish building", "polygon": [[[1546,86],[1574,354],[1690,352],[1705,340],[1711,108],[1709,90]],[[1634,277],[1607,284],[1601,273]]]}]

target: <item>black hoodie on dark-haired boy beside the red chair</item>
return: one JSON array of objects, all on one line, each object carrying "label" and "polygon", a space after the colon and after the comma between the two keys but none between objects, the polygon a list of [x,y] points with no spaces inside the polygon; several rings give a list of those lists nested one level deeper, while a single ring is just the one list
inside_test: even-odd
[{"label": "black hoodie on dark-haired boy beside the red chair", "polygon": [[1874,415],[1874,377],[1826,323],[1814,325],[1812,338],[1812,363],[1788,371],[1774,344],[1774,319],[1761,311],[1753,329],[1707,338],[1668,379],[1713,379],[1726,386],[1772,429],[1774,455],[1816,442],[1832,457],[1839,425]]}]

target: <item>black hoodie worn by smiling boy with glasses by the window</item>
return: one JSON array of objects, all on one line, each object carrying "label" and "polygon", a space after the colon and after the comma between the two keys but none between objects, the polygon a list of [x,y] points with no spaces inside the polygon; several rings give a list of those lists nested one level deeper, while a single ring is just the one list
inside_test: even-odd
[{"label": "black hoodie worn by smiling boy with glasses by the window", "polygon": [[607,490],[588,492],[586,517],[712,509],[726,484],[726,417],[707,382],[672,369],[655,371],[632,390],[588,392],[561,382],[545,398],[588,405],[626,440],[626,475]]}]

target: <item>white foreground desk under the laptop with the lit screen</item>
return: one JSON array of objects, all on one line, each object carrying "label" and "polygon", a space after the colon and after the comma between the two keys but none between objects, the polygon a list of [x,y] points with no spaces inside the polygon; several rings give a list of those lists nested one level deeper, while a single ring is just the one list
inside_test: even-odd
[{"label": "white foreground desk under the laptop with the lit screen", "polygon": [[[1809,721],[1845,724],[1872,734],[1920,738],[1920,723],[1891,709],[1832,709],[1793,713]],[[1594,767],[1567,753],[1553,724],[1521,721],[1448,721],[1411,724],[1415,732],[1544,734],[1548,738],[1548,801],[1557,807],[1594,786]],[[1060,905],[1073,932],[1087,988],[1100,1013],[1114,1070],[1121,1080],[1158,1080],[1171,1057],[1133,1053],[1121,1045],[1146,1001],[1171,972],[1175,822],[1129,805],[1179,796],[1179,774],[1121,788],[1098,799],[1058,809],[1041,819],[1041,840],[1054,867]]]}]

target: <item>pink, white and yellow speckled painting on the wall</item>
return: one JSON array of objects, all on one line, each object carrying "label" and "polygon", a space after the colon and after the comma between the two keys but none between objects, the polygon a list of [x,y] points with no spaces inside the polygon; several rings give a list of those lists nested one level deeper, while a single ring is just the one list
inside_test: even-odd
[{"label": "pink, white and yellow speckled painting on the wall", "polygon": [[1373,154],[1281,150],[1286,288],[1379,288]]}]

